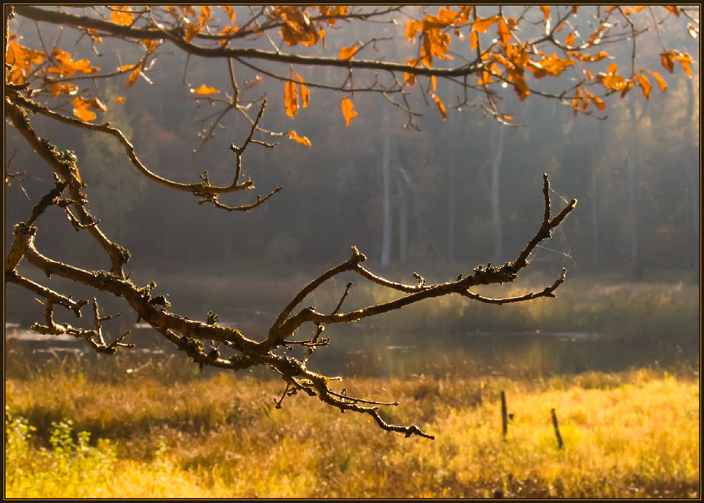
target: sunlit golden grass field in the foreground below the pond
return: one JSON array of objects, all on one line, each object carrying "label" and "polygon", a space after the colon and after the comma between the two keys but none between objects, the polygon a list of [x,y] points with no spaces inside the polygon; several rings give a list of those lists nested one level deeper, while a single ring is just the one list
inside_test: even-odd
[{"label": "sunlit golden grass field in the foreground below the pond", "polygon": [[[282,384],[241,375],[8,378],[5,495],[699,498],[698,369],[671,372],[344,381],[350,395],[397,399],[386,420],[436,440],[310,397],[275,409]],[[505,440],[501,390],[514,414]]]}]

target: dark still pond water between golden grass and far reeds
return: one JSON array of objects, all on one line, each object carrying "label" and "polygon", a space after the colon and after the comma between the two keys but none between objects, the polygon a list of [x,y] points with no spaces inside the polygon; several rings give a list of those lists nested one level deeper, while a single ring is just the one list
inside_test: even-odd
[{"label": "dark still pond water between golden grass and far reeds", "polygon": [[[308,367],[327,375],[493,374],[532,378],[699,364],[698,340],[538,331],[399,333],[361,325],[327,330],[324,335],[331,337],[331,343],[310,357]],[[133,358],[135,364],[146,358],[182,357],[168,344],[163,344],[160,337],[149,325],[137,325],[130,339],[142,343],[137,349],[125,350],[122,357]],[[68,335],[41,335],[16,324],[6,324],[7,347],[30,356],[37,363],[67,355],[81,359],[97,357],[83,340]],[[294,347],[290,354],[300,356],[300,349]]]}]

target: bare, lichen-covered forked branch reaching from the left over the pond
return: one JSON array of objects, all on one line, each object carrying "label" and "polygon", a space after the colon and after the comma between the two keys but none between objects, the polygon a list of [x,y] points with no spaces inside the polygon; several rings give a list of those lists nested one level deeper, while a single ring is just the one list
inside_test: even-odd
[{"label": "bare, lichen-covered forked branch reaching from the left over the pond", "polygon": [[[204,322],[191,320],[170,311],[171,306],[168,300],[166,300],[165,295],[156,294],[156,282],[151,281],[143,287],[138,287],[130,280],[129,275],[126,276],[123,273],[122,268],[125,266],[125,263],[127,263],[127,259],[129,259],[129,252],[119,244],[108,240],[101,230],[99,230],[97,225],[98,220],[89,212],[87,208],[87,194],[85,193],[86,187],[80,178],[77,157],[70,151],[58,151],[51,142],[40,138],[37,132],[34,131],[34,128],[32,128],[26,111],[42,113],[45,116],[60,120],[63,123],[70,123],[70,125],[75,125],[80,128],[108,132],[118,137],[123,145],[125,145],[127,140],[124,139],[118,130],[114,130],[109,125],[94,126],[83,123],[80,120],[59,116],[48,108],[34,104],[30,99],[21,96],[21,94],[15,90],[10,90],[8,94],[6,94],[6,116],[8,116],[13,125],[15,125],[15,128],[18,129],[34,151],[46,161],[47,165],[54,173],[56,182],[55,186],[51,188],[44,197],[40,198],[37,204],[32,208],[27,220],[15,225],[14,239],[5,258],[5,280],[6,282],[11,282],[14,285],[30,290],[30,292],[44,299],[44,319],[42,323],[34,323],[32,330],[45,334],[70,334],[75,337],[83,338],[99,353],[115,354],[118,350],[134,347],[134,344],[122,342],[129,332],[115,337],[112,342],[106,340],[107,337],[103,330],[103,323],[114,316],[101,315],[97,297],[94,297],[91,302],[91,316],[87,316],[87,318],[92,321],[92,326],[89,328],[55,321],[54,308],[56,305],[63,306],[65,309],[73,311],[76,318],[82,318],[81,309],[88,304],[89,301],[87,299],[75,301],[70,295],[60,294],[45,285],[23,277],[23,275],[20,275],[18,272],[18,266],[23,260],[26,259],[26,263],[29,263],[30,266],[37,268],[39,271],[43,271],[49,277],[51,275],[57,275],[61,278],[73,280],[80,285],[90,287],[96,293],[125,299],[134,313],[137,313],[139,319],[149,323],[152,328],[163,335],[166,341],[187,354],[187,356],[199,364],[201,368],[212,366],[232,371],[257,365],[271,368],[272,371],[275,371],[282,378],[286,385],[281,397],[275,399],[277,407],[282,406],[282,401],[285,397],[303,392],[306,395],[318,397],[325,404],[334,406],[341,412],[352,411],[358,414],[366,414],[373,418],[377,426],[383,430],[401,433],[406,435],[406,437],[419,435],[433,438],[433,435],[426,433],[416,425],[399,426],[384,421],[384,418],[379,414],[379,407],[396,406],[398,402],[381,402],[375,399],[353,397],[348,395],[344,388],[341,388],[341,390],[333,390],[331,387],[332,381],[341,380],[341,377],[322,375],[310,371],[306,367],[308,359],[313,355],[316,349],[327,347],[330,344],[330,337],[321,337],[326,325],[359,321],[370,316],[401,309],[415,302],[448,294],[458,294],[468,299],[493,304],[525,302],[539,297],[555,297],[555,290],[562,284],[562,281],[565,280],[565,270],[562,270],[560,278],[553,282],[552,285],[546,286],[543,290],[539,292],[529,292],[519,297],[508,297],[504,299],[490,299],[470,290],[477,285],[513,281],[518,273],[528,266],[527,258],[535,247],[543,240],[548,239],[551,236],[551,230],[558,227],[558,225],[565,220],[565,217],[574,209],[577,201],[573,199],[557,215],[551,216],[551,201],[549,197],[550,185],[548,176],[543,175],[545,209],[543,211],[542,221],[532,240],[528,242],[527,246],[518,254],[517,259],[513,262],[507,262],[503,264],[503,266],[491,266],[491,263],[486,266],[477,266],[469,275],[458,275],[456,280],[434,285],[427,284],[425,278],[419,273],[413,273],[416,280],[415,284],[405,284],[383,278],[365,268],[363,263],[366,260],[366,256],[356,247],[352,247],[351,256],[346,261],[325,271],[296,293],[291,301],[284,306],[282,311],[278,314],[276,320],[268,330],[268,333],[260,335],[260,337],[246,337],[240,330],[237,330],[237,328],[220,325],[218,324],[217,317],[214,315],[208,316],[208,319]],[[151,175],[148,175],[148,178],[171,188],[182,189],[182,187],[188,187],[187,190],[203,197],[203,201],[201,202],[209,201],[215,204],[215,206],[226,210],[248,211],[249,209],[263,204],[263,202],[271,197],[272,194],[275,194],[280,187],[273,190],[267,197],[258,197],[257,201],[251,205],[230,207],[218,201],[219,194],[230,192],[230,190],[237,190],[234,187],[251,187],[251,181],[239,181],[241,175],[241,156],[249,144],[263,143],[253,139],[255,131],[258,130],[258,123],[263,111],[264,106],[260,108],[256,120],[253,120],[249,135],[246,137],[244,143],[241,144],[241,147],[234,145],[231,147],[236,159],[233,182],[230,187],[215,187],[210,185],[206,170],[203,170],[203,175],[201,175],[203,183],[197,185],[197,187],[199,187],[198,190],[194,189],[196,185],[176,184],[175,182],[168,182],[168,180],[167,183],[164,184],[164,179],[157,177],[158,180],[154,180]],[[272,147],[272,145],[268,144],[265,146]],[[142,168],[139,167],[141,163],[139,163],[138,160],[134,161],[137,158],[134,156],[131,145],[126,148],[125,153],[133,160],[133,164],[135,164],[137,169],[144,173]],[[90,168],[92,167],[82,166],[82,169]],[[146,168],[144,169],[146,170]],[[156,177],[156,175],[153,176]],[[68,192],[68,197],[64,197],[65,192]],[[101,244],[108,259],[111,261],[110,272],[89,271],[77,265],[50,259],[37,250],[34,241],[42,221],[42,216],[47,211],[53,211],[51,209],[54,206],[58,207],[61,211],[67,212],[70,223],[76,230],[89,232],[92,237]],[[73,216],[70,210],[75,212],[77,216]],[[401,296],[389,302],[372,304],[345,311],[343,306],[348,299],[348,292],[352,287],[352,283],[348,282],[337,306],[331,312],[320,312],[315,306],[299,308],[306,298],[318,290],[323,283],[346,272],[356,273],[360,278],[363,278],[363,280],[367,280],[379,287],[399,292]],[[315,325],[315,334],[313,337],[304,340],[294,339],[294,334],[298,328],[301,328],[305,323]],[[212,341],[209,349],[206,348],[205,342],[207,341]],[[214,345],[215,342],[218,343],[217,346]],[[294,344],[300,344],[301,347],[305,348],[301,359],[296,359],[286,354],[280,354],[282,350],[290,349]],[[221,349],[222,352],[228,352],[230,354],[221,354]]]}]

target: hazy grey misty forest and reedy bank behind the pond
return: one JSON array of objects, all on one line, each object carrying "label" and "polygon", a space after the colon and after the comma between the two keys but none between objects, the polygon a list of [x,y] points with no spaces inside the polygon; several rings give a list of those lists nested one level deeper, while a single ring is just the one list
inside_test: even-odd
[{"label": "hazy grey misty forest and reedy bank behind the pond", "polygon": [[[16,23],[25,39],[37,36],[34,25]],[[351,30],[348,39],[330,37],[328,52],[337,54],[335,44],[365,39],[359,30]],[[387,30],[395,39],[379,44],[382,54],[376,57],[403,58],[415,51],[403,27]],[[696,39],[685,40],[679,32],[663,31],[662,36],[683,51],[698,52]],[[372,57],[372,49],[367,50],[365,57]],[[621,53],[614,53],[616,61],[627,64],[630,50],[621,47]],[[130,51],[127,45],[118,49],[123,62],[134,59]],[[655,37],[639,39],[639,64],[658,61],[658,52]],[[118,65],[112,52],[106,51],[103,60],[103,68]],[[241,143],[249,126],[239,116],[230,116],[223,121],[227,130],[218,128],[199,148],[199,120],[217,108],[205,101],[196,106],[184,80],[191,87],[205,83],[227,89],[228,76],[224,63],[215,66],[193,58],[184,74],[185,65],[184,56],[167,51],[149,71],[153,85],[139,79],[127,91],[125,82],[98,84],[109,108],[99,120],[120,128],[155,173],[191,181],[207,169],[212,182],[226,182],[234,164],[228,147]],[[263,68],[274,67],[263,63]],[[296,70],[306,80],[344,80],[338,70]],[[238,73],[245,79],[256,75],[246,68]],[[323,89],[313,89],[310,106],[291,120],[284,113],[283,82],[265,76],[247,94],[251,99],[268,97],[263,127],[296,130],[313,147],[284,136],[275,149],[253,145],[246,151],[244,176],[255,182],[253,192],[268,194],[277,185],[284,187],[251,213],[199,206],[189,195],[150,184],[111,137],[78,132],[41,117],[32,120],[40,135],[77,154],[101,228],[132,253],[132,279],[137,284],[156,280],[160,292],[184,315],[205,319],[213,310],[221,321],[260,339],[260,330],[277,310],[310,278],[346,259],[351,245],[367,255],[373,270],[404,282],[413,281],[412,271],[438,282],[480,263],[512,260],[540,223],[541,174],[548,173],[553,204],[558,205],[560,197],[574,197],[579,205],[554,232],[548,248],[534,254],[527,278],[510,288],[516,294],[542,288],[565,267],[567,281],[558,299],[540,299],[536,307],[429,301],[356,324],[359,327],[329,331],[401,330],[398,340],[403,344],[477,330],[627,335],[638,341],[636,346],[647,341],[656,356],[665,344],[677,349],[675,358],[698,358],[689,351],[698,348],[699,333],[698,66],[692,79],[681,71],[666,77],[666,93],[653,89],[646,101],[633,89],[595,116],[574,116],[569,107],[537,96],[520,104],[507,89],[500,106],[522,128],[502,127],[472,106],[461,111],[448,106],[444,121],[434,106],[426,107],[415,97],[415,106],[424,113],[416,119],[417,131],[403,128],[406,113],[371,93],[353,96],[359,115],[348,127],[339,94]],[[439,91],[447,105],[459,98],[458,89],[446,82],[439,82]],[[116,99],[123,96],[126,101],[118,104]],[[608,120],[596,117],[603,115]],[[27,174],[21,184],[5,188],[7,243],[13,223],[27,218],[32,204],[53,182],[14,130],[8,128],[5,135],[6,161],[14,156],[11,170]],[[254,194],[246,197],[253,199]],[[105,267],[96,259],[102,256],[94,242],[73,232],[61,212],[43,218],[37,237],[43,253],[85,268]],[[70,291],[81,292],[75,285]],[[332,309],[343,291],[344,283],[330,285],[329,299],[315,300]],[[361,283],[352,293],[348,302],[379,295]],[[42,316],[42,306],[16,287],[6,287],[5,302],[7,321],[25,328]],[[103,305],[125,308],[108,299]],[[115,322],[116,333],[133,328],[134,320],[127,318]],[[348,346],[358,348],[364,341],[348,341]],[[316,357],[324,360],[323,353]]]}]

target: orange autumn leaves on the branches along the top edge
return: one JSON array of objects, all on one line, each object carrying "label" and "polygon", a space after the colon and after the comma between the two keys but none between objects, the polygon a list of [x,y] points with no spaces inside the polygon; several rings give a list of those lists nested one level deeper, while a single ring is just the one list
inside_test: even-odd
[{"label": "orange autumn leaves on the branches along the top edge", "polygon": [[[341,101],[341,111],[346,125],[350,125],[357,115],[351,101],[354,92],[351,75],[367,70],[386,73],[394,80],[397,74],[402,78],[392,85],[377,85],[375,77],[375,84],[365,91],[383,92],[387,97],[396,93],[405,104],[410,89],[420,89],[432,99],[431,103],[435,104],[443,118],[446,118],[447,111],[436,89],[437,77],[453,79],[455,84],[465,89],[465,96],[468,92],[477,93],[478,96],[486,94],[488,105],[483,106],[499,120],[510,120],[507,119],[510,116],[499,112],[493,99],[498,87],[513,88],[520,101],[535,92],[560,99],[571,106],[575,114],[603,111],[608,97],[612,94],[625,97],[633,87],[640,87],[643,97],[649,99],[653,88],[650,77],[662,92],[667,89],[667,83],[653,68],[636,68],[636,45],[632,45],[630,61],[615,61],[614,53],[602,47],[636,44],[638,35],[646,31],[651,21],[658,25],[669,21],[681,23],[684,15],[694,20],[686,8],[677,6],[597,7],[596,15],[590,15],[593,21],[590,30],[584,32],[585,25],[582,24],[583,31],[580,32],[575,27],[578,24],[572,22],[574,17],[580,15],[577,6],[534,6],[522,13],[515,8],[494,8],[495,13],[491,15],[487,15],[491,10],[489,6],[440,7],[434,13],[427,13],[430,9],[408,11],[422,13],[417,17],[400,7],[370,10],[358,6],[275,6],[261,8],[258,14],[242,25],[235,24],[237,13],[232,6],[214,9],[210,6],[123,5],[103,6],[102,9],[16,6],[15,12],[39,22],[73,27],[84,32],[93,44],[103,44],[106,37],[141,44],[144,56],[139,61],[122,64],[116,69],[117,75],[127,75],[125,88],[132,87],[140,76],[149,81],[146,76],[149,70],[147,63],[165,42],[172,42],[189,54],[221,57],[230,60],[230,64],[234,61],[251,68],[255,68],[254,63],[259,61],[280,63],[287,66],[287,74],[275,71],[262,73],[283,82],[284,109],[291,118],[310,104],[309,87],[313,84],[294,68],[345,68],[346,65],[349,77],[337,87],[345,95]],[[96,12],[99,14],[96,15]],[[515,17],[507,15],[508,12]],[[384,38],[358,41],[351,45],[349,41],[347,44],[344,41],[342,44],[326,42],[326,27],[334,27],[335,30],[329,31],[337,35],[346,25],[368,23],[372,18],[389,23],[391,28],[385,34],[391,33],[391,37],[385,37],[386,42],[396,37],[397,42],[390,43],[401,46],[403,35],[406,44],[408,41],[414,42],[416,56],[403,58],[403,63],[362,57],[370,52],[365,50],[367,46],[376,47],[377,42]],[[683,25],[683,32],[692,37],[698,37],[698,13],[696,18],[694,25],[688,23],[686,28]],[[399,23],[403,23],[401,37],[398,37],[399,33],[394,33],[394,27]],[[274,38],[277,36],[282,44],[275,51],[253,49],[251,42],[247,42],[261,38],[275,44]],[[662,39],[660,42],[663,44]],[[333,53],[337,57],[325,56],[328,44],[337,46]],[[288,47],[294,46],[303,48],[287,51]],[[314,50],[316,46],[320,49]],[[91,61],[75,58],[66,49],[68,47],[56,47],[47,54],[43,49],[24,46],[18,37],[10,33],[6,39],[6,61],[10,68],[6,69],[6,82],[13,85],[32,82],[35,95],[47,92],[54,98],[70,97],[77,118],[87,122],[96,120],[96,112],[106,110],[106,106],[94,97],[85,96],[87,92],[80,90],[77,77],[115,77],[115,72],[101,73],[101,68]],[[628,49],[631,49],[630,45]],[[458,55],[461,62],[455,63]],[[694,61],[689,54],[662,45],[659,57],[660,65],[668,73],[674,73],[679,65],[688,77],[693,75]],[[549,94],[539,90],[539,80],[558,78],[567,70],[570,72],[570,82],[562,93]],[[256,75],[249,81],[249,87],[261,80],[262,75]],[[206,98],[220,91],[203,83],[200,87],[191,88],[191,93]],[[237,100],[237,92],[234,94]],[[294,132],[289,133],[289,137],[306,143]]]}]

